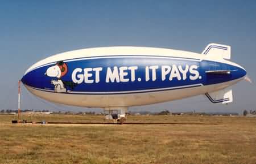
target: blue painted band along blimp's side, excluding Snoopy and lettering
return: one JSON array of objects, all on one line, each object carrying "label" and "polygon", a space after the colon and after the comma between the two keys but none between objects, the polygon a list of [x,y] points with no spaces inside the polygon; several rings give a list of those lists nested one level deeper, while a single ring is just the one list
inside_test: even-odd
[{"label": "blue painted band along blimp's side, excluding Snoopy and lettering", "polygon": [[[90,71],[92,77],[88,77],[89,80],[94,80],[94,83],[85,83],[83,80],[81,84],[76,84],[75,87],[71,88],[68,85],[65,85],[67,90],[71,90],[74,92],[129,92],[134,90],[146,90],[146,92],[150,92],[150,89],[167,89],[170,87],[186,87],[187,85],[210,85],[216,83],[222,83],[225,81],[235,80],[240,77],[245,76],[245,70],[231,66],[224,63],[210,62],[210,61],[191,61],[184,58],[161,58],[161,57],[146,57],[146,56],[138,56],[134,57],[112,57],[112,58],[87,58],[81,59],[78,61],[70,61],[65,62],[68,67],[67,74],[60,78],[62,81],[72,81],[72,73],[76,68],[97,68],[101,67],[102,71],[100,71],[100,81],[96,83],[96,74],[94,71]],[[181,72],[181,80],[177,77],[174,77],[172,80],[169,80],[170,74],[166,75],[166,79],[162,79],[162,66],[171,66],[174,65],[181,66],[183,70],[185,70],[186,65],[197,66],[196,69],[199,72],[201,77],[196,80],[191,80],[189,76],[195,76],[195,74],[191,74],[191,72],[187,72],[187,79],[183,80],[183,76]],[[51,64],[49,66],[43,66],[36,68],[35,70],[28,72],[23,76],[22,82],[30,87],[38,88],[38,89],[46,89],[46,90],[55,90],[55,85],[51,84],[51,80],[58,80],[57,77],[49,77],[45,75],[47,69],[49,67],[55,66],[55,64]],[[125,79],[129,79],[128,82],[119,82],[113,81],[106,83],[106,75],[108,67],[113,71],[114,67],[132,67],[137,66],[138,69],[135,70],[135,81],[131,81],[131,71],[125,70],[127,75],[124,76]],[[152,70],[149,71],[150,80],[146,80],[146,67],[147,66],[158,66],[156,69],[156,80],[152,80]],[[205,71],[208,70],[234,70],[229,75],[208,75],[205,74]],[[76,79],[79,79],[79,76],[84,76],[84,71],[76,74]],[[139,80],[141,79],[141,81]],[[187,88],[187,87],[186,87]],[[152,91],[151,91],[152,92]]]}]

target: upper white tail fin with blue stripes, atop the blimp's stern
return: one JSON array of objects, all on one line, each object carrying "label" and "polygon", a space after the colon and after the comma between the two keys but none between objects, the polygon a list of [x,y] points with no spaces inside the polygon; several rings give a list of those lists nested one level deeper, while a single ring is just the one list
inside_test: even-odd
[{"label": "upper white tail fin with blue stripes, atop the blimp's stern", "polygon": [[202,54],[212,56],[213,58],[230,59],[231,47],[212,43],[204,49]]}]

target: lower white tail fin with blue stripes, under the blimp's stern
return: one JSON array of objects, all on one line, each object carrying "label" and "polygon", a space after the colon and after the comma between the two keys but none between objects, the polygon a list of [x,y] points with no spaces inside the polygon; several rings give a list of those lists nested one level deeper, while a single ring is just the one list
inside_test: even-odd
[{"label": "lower white tail fin with blue stripes, under the blimp's stern", "polygon": [[212,103],[230,103],[233,102],[232,89],[218,90],[215,92],[205,93]]}]

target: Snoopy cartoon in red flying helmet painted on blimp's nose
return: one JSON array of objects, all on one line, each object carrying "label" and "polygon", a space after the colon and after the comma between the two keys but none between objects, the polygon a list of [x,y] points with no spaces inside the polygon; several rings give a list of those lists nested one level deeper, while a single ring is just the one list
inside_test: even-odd
[{"label": "Snoopy cartoon in red flying helmet painted on blimp's nose", "polygon": [[55,86],[55,92],[57,93],[65,93],[71,92],[71,90],[67,90],[67,86],[72,89],[75,87],[75,83],[71,81],[63,81],[61,77],[65,76],[68,72],[68,66],[63,61],[57,62],[55,66],[51,66],[47,68],[45,75],[49,77],[56,77],[57,80],[51,80],[51,84]]}]

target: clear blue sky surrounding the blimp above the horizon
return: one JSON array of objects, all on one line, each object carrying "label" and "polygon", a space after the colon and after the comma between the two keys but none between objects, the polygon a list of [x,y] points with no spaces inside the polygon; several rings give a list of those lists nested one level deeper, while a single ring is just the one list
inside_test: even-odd
[{"label": "clear blue sky surrounding the blimp above the horizon", "polygon": [[[256,81],[256,1],[1,1],[0,109],[17,108],[17,81],[33,63],[53,54],[117,45],[201,53],[210,42],[231,45],[232,61]],[[233,96],[229,105],[213,105],[197,96],[130,109],[256,109],[255,83],[234,85]],[[89,110],[40,100],[24,87],[22,108]]]}]

